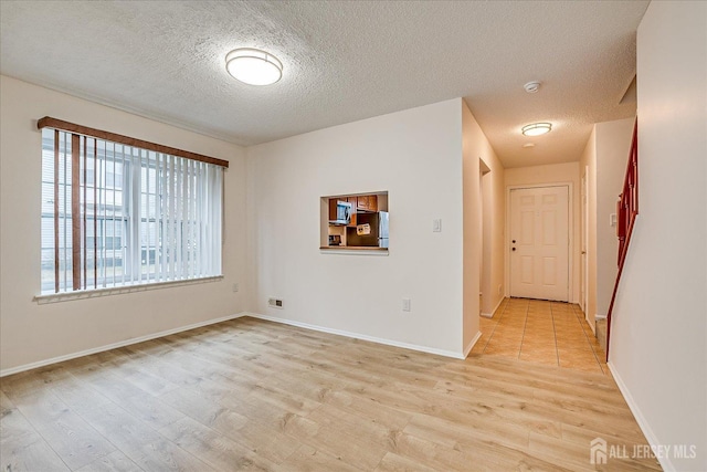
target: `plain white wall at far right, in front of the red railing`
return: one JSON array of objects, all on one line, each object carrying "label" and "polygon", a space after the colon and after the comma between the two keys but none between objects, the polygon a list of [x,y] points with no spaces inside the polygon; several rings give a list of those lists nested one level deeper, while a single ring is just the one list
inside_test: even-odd
[{"label": "plain white wall at far right, in front of the red railing", "polygon": [[648,441],[707,470],[707,3],[651,2],[637,33],[639,210],[610,366]]}]

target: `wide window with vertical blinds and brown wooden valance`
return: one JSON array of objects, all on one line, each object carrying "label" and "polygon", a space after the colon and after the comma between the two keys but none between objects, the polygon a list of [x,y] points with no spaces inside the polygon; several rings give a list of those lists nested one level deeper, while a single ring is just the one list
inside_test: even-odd
[{"label": "wide window with vertical blinds and brown wooden valance", "polygon": [[42,294],[221,275],[226,161],[54,123],[40,120]]}]

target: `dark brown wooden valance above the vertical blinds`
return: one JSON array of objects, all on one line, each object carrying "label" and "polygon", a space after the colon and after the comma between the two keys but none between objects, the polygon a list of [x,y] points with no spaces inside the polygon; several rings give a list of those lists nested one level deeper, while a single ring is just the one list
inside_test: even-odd
[{"label": "dark brown wooden valance above the vertical blinds", "polygon": [[64,122],[63,119],[52,118],[45,116],[36,122],[36,128],[52,128],[63,132],[75,133],[84,136],[89,136],[98,139],[105,139],[113,143],[124,144],[126,146],[135,146],[147,150],[154,150],[156,153],[169,154],[171,156],[179,156],[187,159],[198,160],[200,162],[214,164],[221,167],[229,167],[229,161],[223,159],[217,159],[215,157],[209,157],[197,153],[190,153],[188,150],[178,149],[176,147],[163,146],[161,144],[150,143],[143,139],[131,138],[129,136],[119,135],[117,133],[104,132],[102,129],[91,128],[88,126],[76,125],[74,123]]}]

